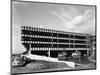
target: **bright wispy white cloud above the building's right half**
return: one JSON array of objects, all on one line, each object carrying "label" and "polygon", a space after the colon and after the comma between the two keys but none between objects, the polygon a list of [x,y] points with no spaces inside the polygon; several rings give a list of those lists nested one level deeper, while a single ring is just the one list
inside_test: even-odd
[{"label": "bright wispy white cloud above the building's right half", "polygon": [[[72,11],[72,12],[71,12]],[[94,27],[95,23],[92,21],[95,20],[93,10],[86,9],[84,10],[83,14],[81,14],[79,11],[75,11],[75,14],[73,16],[73,10],[70,12],[68,10],[65,10],[62,8],[60,11],[52,11],[51,13],[55,15],[59,20],[61,20],[63,26],[66,28],[66,31],[71,32],[79,32],[79,33],[89,33],[94,34]],[[91,28],[91,30],[89,30]]]}]

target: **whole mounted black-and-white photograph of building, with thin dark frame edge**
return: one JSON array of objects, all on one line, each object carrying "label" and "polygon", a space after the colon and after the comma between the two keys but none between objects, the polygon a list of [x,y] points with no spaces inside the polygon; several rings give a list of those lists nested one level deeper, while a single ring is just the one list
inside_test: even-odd
[{"label": "whole mounted black-and-white photograph of building, with thin dark frame edge", "polygon": [[96,6],[11,1],[11,73],[96,69]]}]

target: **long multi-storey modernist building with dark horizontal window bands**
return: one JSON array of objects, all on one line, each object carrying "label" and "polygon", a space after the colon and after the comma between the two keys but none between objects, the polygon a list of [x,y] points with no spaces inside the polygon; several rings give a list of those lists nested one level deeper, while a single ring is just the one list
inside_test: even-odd
[{"label": "long multi-storey modernist building with dark horizontal window bands", "polygon": [[90,34],[58,31],[52,29],[21,27],[21,42],[32,54],[58,57],[65,50],[71,56],[72,52],[80,51],[81,55],[90,55]]}]

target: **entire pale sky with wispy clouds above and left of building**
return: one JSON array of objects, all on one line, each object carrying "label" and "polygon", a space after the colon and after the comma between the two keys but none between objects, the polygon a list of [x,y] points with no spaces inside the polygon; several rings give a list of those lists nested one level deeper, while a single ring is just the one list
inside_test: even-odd
[{"label": "entire pale sky with wispy clouds above and left of building", "polygon": [[12,2],[12,53],[26,51],[21,26],[95,35],[95,6]]}]

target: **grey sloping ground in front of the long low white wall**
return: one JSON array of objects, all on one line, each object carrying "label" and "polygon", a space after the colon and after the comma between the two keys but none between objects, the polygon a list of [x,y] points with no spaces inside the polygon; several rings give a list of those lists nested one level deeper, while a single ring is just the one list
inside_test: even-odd
[{"label": "grey sloping ground in front of the long low white wall", "polygon": [[37,72],[43,70],[51,70],[51,69],[71,69],[65,63],[57,63],[57,62],[48,62],[48,61],[32,61],[27,64],[25,67],[12,67],[12,73],[27,73],[27,72]]}]

